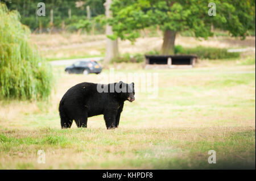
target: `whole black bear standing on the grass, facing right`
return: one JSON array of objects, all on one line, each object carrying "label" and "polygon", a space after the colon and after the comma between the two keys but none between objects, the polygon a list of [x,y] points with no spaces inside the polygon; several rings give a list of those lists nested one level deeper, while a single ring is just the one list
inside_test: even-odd
[{"label": "whole black bear standing on the grass, facing right", "polygon": [[106,128],[117,128],[125,100],[133,102],[134,83],[110,83],[108,85],[83,82],[71,87],[60,100],[61,128],[87,127],[88,117],[104,115]]}]

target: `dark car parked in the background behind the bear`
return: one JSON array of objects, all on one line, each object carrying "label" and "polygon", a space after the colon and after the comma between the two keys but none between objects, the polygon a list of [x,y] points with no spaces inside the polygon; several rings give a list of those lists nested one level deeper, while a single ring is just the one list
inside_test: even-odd
[{"label": "dark car parked in the background behind the bear", "polygon": [[65,72],[68,74],[90,74],[101,73],[102,67],[96,61],[77,61],[71,66],[65,68]]}]

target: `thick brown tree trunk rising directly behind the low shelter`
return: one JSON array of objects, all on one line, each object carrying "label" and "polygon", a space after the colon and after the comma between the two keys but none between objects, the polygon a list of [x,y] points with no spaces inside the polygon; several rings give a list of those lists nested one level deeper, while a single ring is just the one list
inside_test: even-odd
[{"label": "thick brown tree trunk rising directly behind the low shelter", "polygon": [[164,32],[161,54],[174,54],[175,37],[175,31],[166,30]]}]

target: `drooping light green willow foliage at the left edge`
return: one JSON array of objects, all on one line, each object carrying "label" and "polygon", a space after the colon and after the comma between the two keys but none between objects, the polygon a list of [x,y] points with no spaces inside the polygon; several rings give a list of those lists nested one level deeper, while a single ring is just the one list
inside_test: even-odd
[{"label": "drooping light green willow foliage at the left edge", "polygon": [[19,19],[17,11],[0,3],[0,98],[47,99],[51,67],[29,43],[30,30]]}]

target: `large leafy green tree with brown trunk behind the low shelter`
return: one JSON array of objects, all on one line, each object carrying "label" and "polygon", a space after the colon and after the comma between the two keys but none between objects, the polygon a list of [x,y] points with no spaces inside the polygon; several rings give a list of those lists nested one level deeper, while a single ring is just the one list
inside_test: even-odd
[{"label": "large leafy green tree with brown trunk behind the low shelter", "polygon": [[[181,31],[192,31],[196,37],[212,36],[211,26],[228,30],[232,36],[245,38],[255,30],[255,1],[214,1],[216,16],[210,16],[207,0],[113,0],[111,38],[135,41],[140,30],[159,26],[163,31],[162,54],[173,54],[175,37]],[[213,7],[214,8],[214,7]]]}]

